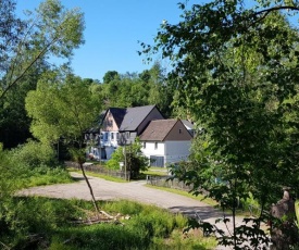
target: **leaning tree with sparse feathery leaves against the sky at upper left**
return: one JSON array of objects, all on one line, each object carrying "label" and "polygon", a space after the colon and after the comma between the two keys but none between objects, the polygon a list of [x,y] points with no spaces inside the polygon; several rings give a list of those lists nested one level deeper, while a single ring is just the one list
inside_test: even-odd
[{"label": "leaning tree with sparse feathery leaves against the sky at upper left", "polygon": [[3,30],[1,36],[3,43],[8,43],[1,51],[1,57],[5,59],[1,61],[0,98],[3,98],[35,64],[49,57],[70,59],[73,50],[83,43],[84,22],[78,9],[64,10],[59,0],[40,3],[36,13],[30,12],[30,18],[24,22],[16,18],[10,21],[15,8],[13,0],[1,1],[1,4],[8,11],[1,22],[8,24],[8,30]]}]

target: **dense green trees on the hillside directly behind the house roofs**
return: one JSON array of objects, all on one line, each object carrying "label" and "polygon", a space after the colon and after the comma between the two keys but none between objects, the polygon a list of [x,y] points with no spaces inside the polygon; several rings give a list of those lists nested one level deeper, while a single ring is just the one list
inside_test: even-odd
[{"label": "dense green trees on the hillside directly behind the house roofs", "polygon": [[107,108],[157,104],[165,116],[172,115],[172,89],[165,82],[164,68],[159,62],[140,74],[107,72],[99,92]]}]

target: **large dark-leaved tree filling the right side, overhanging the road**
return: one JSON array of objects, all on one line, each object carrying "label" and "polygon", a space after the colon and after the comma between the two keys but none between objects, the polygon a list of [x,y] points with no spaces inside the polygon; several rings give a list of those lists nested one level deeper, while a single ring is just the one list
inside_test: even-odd
[{"label": "large dark-leaved tree filling the right side, overhanging the road", "polygon": [[191,162],[174,171],[194,184],[195,193],[209,190],[233,215],[238,199],[252,193],[261,205],[256,227],[233,222],[233,237],[222,234],[220,240],[235,249],[259,248],[261,237],[266,241],[260,223],[282,187],[298,193],[299,36],[284,10],[299,9],[284,1],[246,8],[222,0],[180,8],[183,21],[162,24],[153,47],[142,43],[145,53],[162,51],[173,60],[169,78],[176,103],[201,128]]}]

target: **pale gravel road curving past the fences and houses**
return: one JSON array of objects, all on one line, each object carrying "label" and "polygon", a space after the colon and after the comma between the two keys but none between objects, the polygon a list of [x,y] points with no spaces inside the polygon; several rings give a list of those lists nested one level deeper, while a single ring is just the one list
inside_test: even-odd
[{"label": "pale gravel road curving past the fences and houses", "polygon": [[[23,190],[23,195],[37,195],[64,199],[86,199],[90,200],[89,189],[80,174],[72,173],[78,182],[72,184],[60,184],[42,187],[33,187]],[[183,213],[188,216],[199,216],[201,220],[214,223],[223,214],[213,207],[198,200],[175,195],[172,192],[146,187],[145,180],[132,183],[114,183],[102,178],[88,176],[90,185],[97,200],[127,199],[167,209],[175,213]],[[232,221],[232,220],[231,220]],[[237,217],[237,224],[241,218]],[[226,230],[224,224],[217,224],[219,228]],[[232,225],[228,225],[232,229]]]}]

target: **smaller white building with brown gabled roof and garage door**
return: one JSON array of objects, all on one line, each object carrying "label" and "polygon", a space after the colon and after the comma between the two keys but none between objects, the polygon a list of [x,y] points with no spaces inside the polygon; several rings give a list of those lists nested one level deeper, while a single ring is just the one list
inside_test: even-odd
[{"label": "smaller white building with brown gabled roof and garage door", "polygon": [[151,165],[163,167],[189,157],[192,136],[180,120],[151,121],[139,138]]}]

